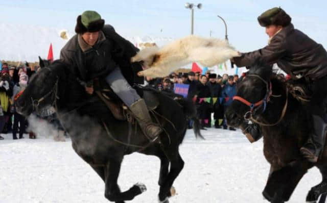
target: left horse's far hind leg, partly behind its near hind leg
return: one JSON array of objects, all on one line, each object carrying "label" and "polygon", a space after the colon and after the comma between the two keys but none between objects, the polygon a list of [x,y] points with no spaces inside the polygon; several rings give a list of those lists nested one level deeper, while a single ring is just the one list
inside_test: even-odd
[{"label": "left horse's far hind leg, partly behind its near hind leg", "polygon": [[153,155],[160,159],[160,172],[159,172],[159,180],[158,185],[162,186],[167,178],[169,172],[169,160],[165,155],[164,151],[161,149],[160,144],[153,144],[140,153],[145,155]]}]

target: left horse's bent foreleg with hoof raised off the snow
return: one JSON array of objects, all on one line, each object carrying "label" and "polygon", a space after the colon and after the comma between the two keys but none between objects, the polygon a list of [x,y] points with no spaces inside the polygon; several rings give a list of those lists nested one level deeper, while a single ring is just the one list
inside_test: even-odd
[{"label": "left horse's bent foreleg with hoof raised off the snow", "polygon": [[105,168],[105,197],[109,201],[124,202],[124,200],[132,200],[136,195],[146,191],[143,184],[135,184],[129,190],[121,192],[117,184],[118,175],[121,169],[122,160],[110,160]]}]

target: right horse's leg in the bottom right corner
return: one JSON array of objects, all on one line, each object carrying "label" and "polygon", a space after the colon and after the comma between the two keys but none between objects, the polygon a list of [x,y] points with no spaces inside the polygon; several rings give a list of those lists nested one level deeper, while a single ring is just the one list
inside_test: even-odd
[{"label": "right horse's leg in the bottom right corner", "polygon": [[327,169],[319,168],[322,174],[322,181],[318,185],[311,188],[307,195],[307,202],[316,202],[320,197],[319,203],[325,202],[326,193],[327,193]]}]

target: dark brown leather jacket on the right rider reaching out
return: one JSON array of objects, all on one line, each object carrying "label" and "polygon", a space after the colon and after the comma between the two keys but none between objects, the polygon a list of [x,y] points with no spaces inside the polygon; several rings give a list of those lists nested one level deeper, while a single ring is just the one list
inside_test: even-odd
[{"label": "dark brown leather jacket on the right rider reaching out", "polygon": [[293,24],[284,27],[269,45],[254,52],[242,53],[233,58],[239,67],[251,66],[258,58],[279,68],[296,80],[303,76],[317,80],[327,75],[327,53],[321,44],[294,29]]}]

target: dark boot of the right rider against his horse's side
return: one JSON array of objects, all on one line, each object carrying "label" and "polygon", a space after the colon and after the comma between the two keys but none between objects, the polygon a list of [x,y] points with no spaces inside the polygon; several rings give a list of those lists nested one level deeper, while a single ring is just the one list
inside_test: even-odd
[{"label": "dark boot of the right rider against his horse's side", "polygon": [[312,118],[314,133],[310,134],[308,141],[300,148],[300,152],[310,162],[316,163],[323,147],[327,123],[320,116],[312,115]]}]

